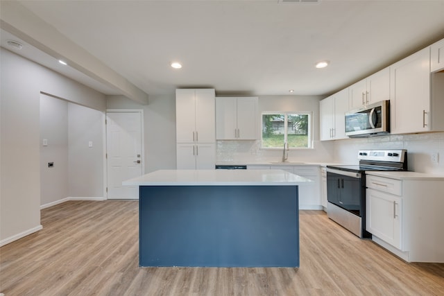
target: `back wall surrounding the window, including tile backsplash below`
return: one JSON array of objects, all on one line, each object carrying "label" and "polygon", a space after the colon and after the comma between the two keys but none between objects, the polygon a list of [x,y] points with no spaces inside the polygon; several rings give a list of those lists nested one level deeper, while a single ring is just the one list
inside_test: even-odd
[{"label": "back wall surrounding the window, including tile backsplash below", "polygon": [[[307,111],[313,112],[313,149],[289,150],[289,161],[329,162],[334,153],[333,143],[319,141],[319,101],[321,96],[259,96],[258,130],[260,137],[261,112]],[[277,162],[282,159],[282,150],[262,149],[257,141],[217,141],[216,162]]]}]

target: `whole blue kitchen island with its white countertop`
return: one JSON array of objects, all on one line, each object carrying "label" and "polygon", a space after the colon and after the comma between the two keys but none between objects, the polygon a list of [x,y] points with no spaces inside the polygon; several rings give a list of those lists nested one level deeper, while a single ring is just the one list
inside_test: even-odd
[{"label": "whole blue kitchen island with its white countertop", "polygon": [[139,265],[298,267],[298,185],[282,170],[162,170],[139,186]]}]

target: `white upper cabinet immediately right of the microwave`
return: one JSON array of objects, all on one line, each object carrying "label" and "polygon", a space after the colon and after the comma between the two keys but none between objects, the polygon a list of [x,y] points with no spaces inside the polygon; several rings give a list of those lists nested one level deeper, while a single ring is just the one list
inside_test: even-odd
[{"label": "white upper cabinet immediately right of the microwave", "polygon": [[429,65],[427,47],[391,66],[391,133],[444,129],[444,73],[431,75]]}]

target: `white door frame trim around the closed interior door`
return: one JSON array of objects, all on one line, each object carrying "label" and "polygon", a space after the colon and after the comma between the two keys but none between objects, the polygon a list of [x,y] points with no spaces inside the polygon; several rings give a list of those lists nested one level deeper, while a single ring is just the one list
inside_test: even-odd
[{"label": "white door frame trim around the closed interior door", "polygon": [[108,119],[108,113],[139,113],[140,114],[140,143],[141,143],[141,161],[142,161],[142,175],[145,174],[145,132],[144,132],[144,110],[143,109],[107,109],[105,110],[105,120],[103,123],[103,156],[105,157],[105,162],[103,162],[103,178],[104,178],[104,184],[103,184],[103,192],[105,193],[105,199],[108,200],[108,146],[107,146],[107,125],[106,120]]}]

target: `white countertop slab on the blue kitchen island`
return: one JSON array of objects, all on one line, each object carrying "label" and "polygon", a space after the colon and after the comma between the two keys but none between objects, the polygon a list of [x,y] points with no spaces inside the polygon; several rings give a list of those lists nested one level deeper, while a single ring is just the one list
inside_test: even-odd
[{"label": "white countertop slab on the blue kitchen island", "polygon": [[291,186],[313,182],[283,170],[160,170],[124,186]]}]

